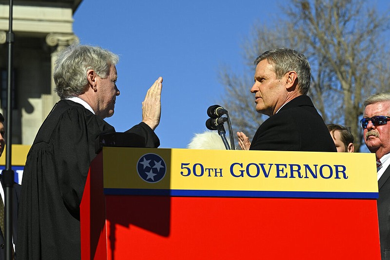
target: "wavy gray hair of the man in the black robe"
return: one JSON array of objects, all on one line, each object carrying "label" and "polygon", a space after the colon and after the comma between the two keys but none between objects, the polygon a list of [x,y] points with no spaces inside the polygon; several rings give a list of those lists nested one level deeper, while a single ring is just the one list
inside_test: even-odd
[{"label": "wavy gray hair of the man in the black robe", "polygon": [[118,61],[116,54],[100,47],[71,45],[61,51],[56,60],[53,73],[55,91],[61,100],[83,94],[88,84],[89,69],[105,79],[110,73],[111,65],[116,65]]}]

